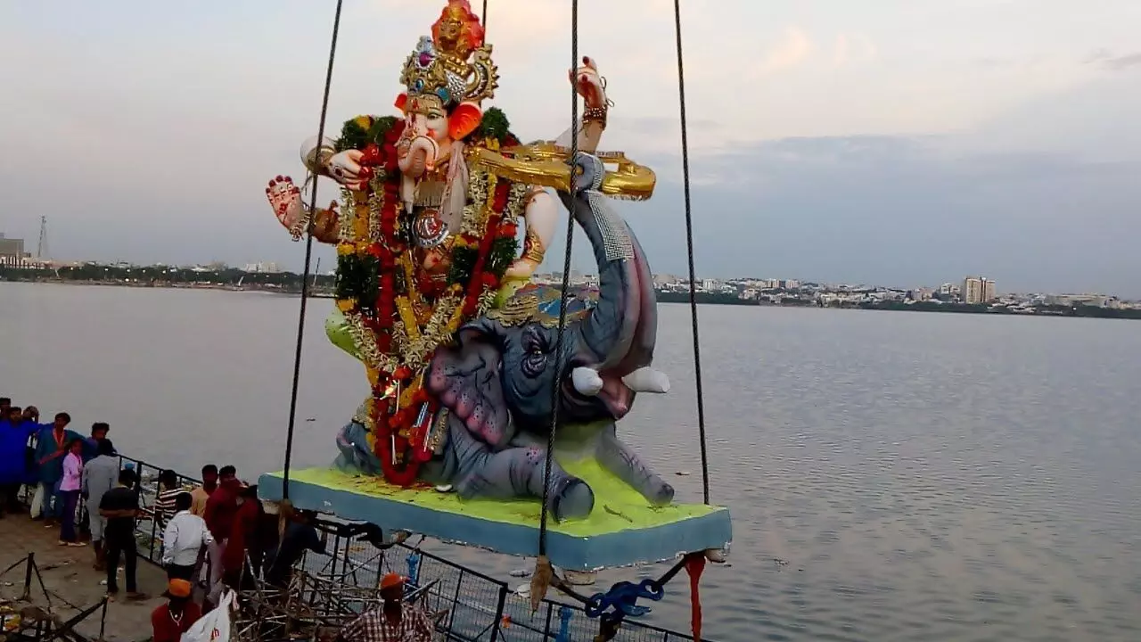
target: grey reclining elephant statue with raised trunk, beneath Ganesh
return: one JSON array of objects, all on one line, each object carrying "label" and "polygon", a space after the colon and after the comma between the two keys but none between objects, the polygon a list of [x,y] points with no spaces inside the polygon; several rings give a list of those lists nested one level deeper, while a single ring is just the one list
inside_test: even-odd
[{"label": "grey reclining elephant statue with raised trunk, beneath Ganesh", "polygon": [[[653,505],[673,499],[673,488],[615,430],[638,392],[669,390],[665,375],[650,368],[657,307],[649,265],[599,192],[602,162],[578,154],[576,171],[573,194],[559,196],[593,247],[598,302],[567,314],[560,353],[557,322],[527,289],[463,324],[453,345],[435,352],[424,387],[439,400],[435,420],[446,434],[419,478],[438,490],[464,499],[542,497],[553,400],[558,452],[596,457]],[[380,474],[366,435],[357,419],[340,431],[340,467]],[[547,508],[555,519],[590,514],[594,492],[586,482],[557,462],[550,481]]]}]

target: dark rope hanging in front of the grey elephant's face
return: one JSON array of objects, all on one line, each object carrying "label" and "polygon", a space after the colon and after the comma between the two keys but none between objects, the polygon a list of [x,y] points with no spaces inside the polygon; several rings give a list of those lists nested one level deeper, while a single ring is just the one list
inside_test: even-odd
[{"label": "dark rope hanging in front of the grey elephant's face", "polygon": [[[578,0],[570,0],[570,176],[569,193],[575,193],[575,163],[578,157]],[[547,470],[543,471],[543,507],[539,517],[539,554],[547,554],[547,501],[551,495],[551,468],[555,466],[555,431],[559,424],[559,392],[563,386],[563,338],[567,328],[567,298],[570,290],[570,250],[574,249],[574,215],[567,216],[567,246],[563,257],[563,292],[559,296],[559,334],[555,339],[556,385],[551,386],[551,432],[547,435]]]}]

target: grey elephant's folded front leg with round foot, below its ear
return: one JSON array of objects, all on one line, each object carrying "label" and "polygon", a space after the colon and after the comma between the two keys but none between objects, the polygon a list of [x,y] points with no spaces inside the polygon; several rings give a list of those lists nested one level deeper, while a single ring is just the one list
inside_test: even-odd
[{"label": "grey elephant's folded front leg with round foot, below its ear", "polygon": [[[463,422],[448,420],[448,439],[456,465],[455,490],[462,499],[542,497],[545,451],[539,447],[513,447],[493,452],[475,439]],[[594,507],[594,492],[586,482],[553,463],[548,508],[556,520],[585,517]]]}]

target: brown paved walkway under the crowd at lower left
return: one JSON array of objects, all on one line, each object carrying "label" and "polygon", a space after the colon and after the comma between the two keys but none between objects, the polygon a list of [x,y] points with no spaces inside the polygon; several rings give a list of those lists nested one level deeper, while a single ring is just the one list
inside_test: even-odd
[{"label": "brown paved walkway under the crowd at lower left", "polygon": [[[83,547],[59,546],[59,529],[44,528],[42,522],[33,522],[27,515],[6,514],[0,519],[0,570],[15,562],[26,560],[29,553],[35,555],[43,586],[50,594],[50,611],[66,621],[79,611],[99,602],[106,594],[103,581],[106,573],[91,568],[95,553],[90,545]],[[18,564],[0,577],[0,597],[16,611],[29,605],[17,602],[24,593],[26,564]],[[124,600],[126,586],[120,571],[120,596],[107,607],[104,640],[108,642],[137,642],[151,637],[151,611],[163,603],[160,595],[167,588],[167,573],[139,559],[139,591],[151,597],[144,602]],[[35,575],[32,575],[31,604],[48,610],[48,600]],[[89,640],[99,636],[100,613],[96,611],[81,621],[75,631]]]}]

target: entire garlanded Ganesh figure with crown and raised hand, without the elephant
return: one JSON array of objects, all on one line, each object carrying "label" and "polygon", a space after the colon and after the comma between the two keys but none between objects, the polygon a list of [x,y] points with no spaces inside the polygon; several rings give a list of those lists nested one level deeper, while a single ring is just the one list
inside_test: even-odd
[{"label": "entire garlanded Ganesh figure with crown and raised hand, without the elephant", "polygon": [[[468,0],[446,2],[399,80],[396,115],[356,117],[338,138],[301,147],[309,179],[337,182],[340,202],[309,211],[283,176],[266,194],[294,240],[310,233],[337,246],[337,310],[326,329],[364,363],[371,385],[351,426],[366,435],[377,472],[411,485],[446,447],[450,409],[426,382],[434,354],[529,281],[561,217],[549,190],[566,193],[575,180],[570,137],[578,151],[596,152],[609,102],[594,62],[583,58],[570,71],[584,101],[581,122],[555,142],[521,145],[502,111],[484,110],[499,74]],[[620,153],[608,158],[620,167],[598,174],[601,193],[649,196],[652,171]],[[601,388],[597,374],[588,379]]]}]

